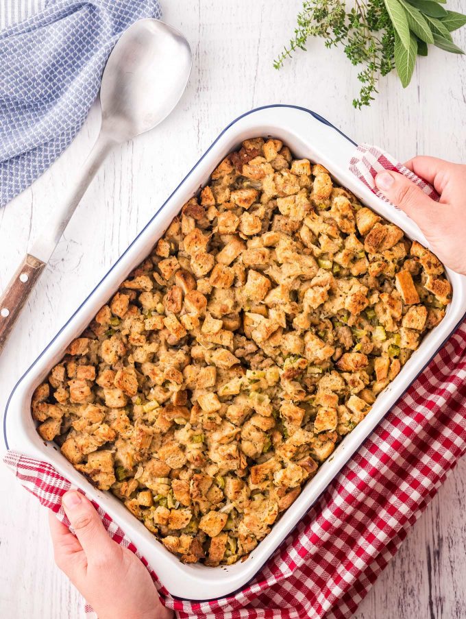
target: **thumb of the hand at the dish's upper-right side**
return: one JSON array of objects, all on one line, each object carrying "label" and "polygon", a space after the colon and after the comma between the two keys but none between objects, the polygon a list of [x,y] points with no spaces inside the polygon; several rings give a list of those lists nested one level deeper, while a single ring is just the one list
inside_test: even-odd
[{"label": "thumb of the hand at the dish's upper-right side", "polygon": [[421,230],[429,226],[437,202],[406,176],[388,170],[380,172],[376,176],[376,186],[390,202],[404,210]]}]

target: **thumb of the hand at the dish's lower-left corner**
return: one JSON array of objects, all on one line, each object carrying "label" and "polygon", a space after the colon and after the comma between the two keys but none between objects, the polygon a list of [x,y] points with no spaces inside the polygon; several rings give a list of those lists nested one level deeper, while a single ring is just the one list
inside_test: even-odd
[{"label": "thumb of the hand at the dish's lower-left corner", "polygon": [[96,555],[101,561],[114,553],[117,546],[85,496],[74,490],[68,491],[63,495],[62,505],[88,561]]}]

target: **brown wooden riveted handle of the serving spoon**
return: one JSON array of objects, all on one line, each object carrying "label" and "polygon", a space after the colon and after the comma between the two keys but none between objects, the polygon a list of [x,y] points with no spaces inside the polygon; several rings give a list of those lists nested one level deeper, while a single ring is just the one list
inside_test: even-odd
[{"label": "brown wooden riveted handle of the serving spoon", "polygon": [[26,254],[19,269],[0,296],[0,352],[44,267],[45,263],[42,260]]}]

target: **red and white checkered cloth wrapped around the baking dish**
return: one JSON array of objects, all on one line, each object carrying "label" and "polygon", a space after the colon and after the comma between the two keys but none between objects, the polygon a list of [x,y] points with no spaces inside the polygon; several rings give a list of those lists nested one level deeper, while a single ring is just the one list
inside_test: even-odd
[{"label": "red and white checkered cloth wrapped around the baking dish", "polygon": [[[406,173],[434,195],[374,147],[360,147],[351,162],[352,171],[374,193],[373,178],[382,168]],[[140,557],[164,605],[180,618],[348,618],[466,452],[465,379],[463,322],[265,567],[243,590],[225,598],[173,598],[123,531],[94,505],[112,539]],[[69,481],[51,465],[21,454],[10,452],[5,461],[26,489],[66,523],[60,503]]]}]

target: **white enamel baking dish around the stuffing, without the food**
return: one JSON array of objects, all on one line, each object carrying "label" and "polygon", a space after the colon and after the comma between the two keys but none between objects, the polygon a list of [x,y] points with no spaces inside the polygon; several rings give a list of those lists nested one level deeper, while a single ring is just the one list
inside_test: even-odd
[{"label": "white enamel baking dish around the stuffing, without the food", "polygon": [[193,600],[225,596],[252,579],[298,520],[317,500],[332,478],[341,470],[349,457],[362,444],[365,437],[371,433],[371,430],[377,426],[417,374],[432,359],[434,353],[456,328],[466,312],[466,278],[448,271],[453,287],[453,298],[447,308],[445,319],[424,339],[399,376],[380,394],[371,413],[336,448],[330,460],[322,465],[291,508],[282,515],[279,522],[273,526],[271,533],[258,544],[251,555],[245,561],[228,567],[208,568],[201,564],[183,565],[180,563],[145,529],[143,524],[127,511],[118,499],[110,492],[95,489],[60,454],[56,445],[45,444],[40,439],[31,417],[30,402],[34,388],[47,376],[51,367],[61,359],[66,345],[82,332],[99,308],[116,291],[120,282],[149,254],[151,247],[162,236],[171,219],[179,213],[184,202],[208,182],[210,173],[228,152],[236,149],[245,138],[253,136],[280,138],[291,147],[293,154],[298,158],[306,157],[322,163],[342,186],[353,191],[362,202],[403,228],[410,238],[427,245],[426,239],[413,221],[410,221],[404,213],[382,202],[356,180],[352,173],[349,173],[348,162],[356,145],[325,119],[321,119],[310,110],[293,106],[267,106],[252,110],[228,125],[167,199],[167,202],[159,208],[130,247],[19,380],[5,411],[7,446],[51,462],[56,470],[69,478],[73,484],[94,497],[136,544],[140,553],[154,567],[167,590],[175,596]]}]

